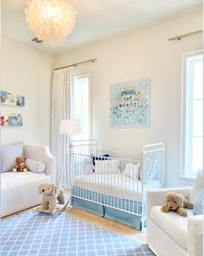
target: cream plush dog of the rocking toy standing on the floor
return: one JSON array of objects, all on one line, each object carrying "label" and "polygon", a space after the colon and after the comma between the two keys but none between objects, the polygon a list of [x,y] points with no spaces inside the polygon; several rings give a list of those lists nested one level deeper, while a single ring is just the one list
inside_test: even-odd
[{"label": "cream plush dog of the rocking toy standing on the floor", "polygon": [[54,183],[41,183],[38,187],[39,193],[42,194],[41,211],[56,210],[56,200],[59,204],[65,204],[64,194],[61,187],[56,187]]}]

